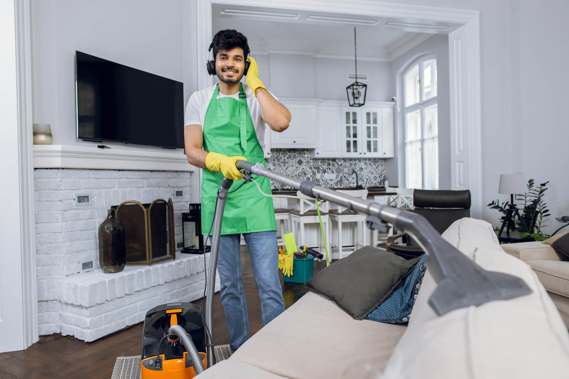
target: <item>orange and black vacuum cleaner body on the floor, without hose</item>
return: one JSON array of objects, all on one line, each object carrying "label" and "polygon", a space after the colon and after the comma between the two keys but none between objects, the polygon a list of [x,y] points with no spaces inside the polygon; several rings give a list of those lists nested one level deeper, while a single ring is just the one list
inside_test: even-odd
[{"label": "orange and black vacuum cleaner body on the floor, without hose", "polygon": [[141,379],[189,379],[196,376],[192,360],[170,326],[183,327],[196,345],[204,367],[205,334],[201,308],[192,303],[167,303],[146,313],[142,335]]}]

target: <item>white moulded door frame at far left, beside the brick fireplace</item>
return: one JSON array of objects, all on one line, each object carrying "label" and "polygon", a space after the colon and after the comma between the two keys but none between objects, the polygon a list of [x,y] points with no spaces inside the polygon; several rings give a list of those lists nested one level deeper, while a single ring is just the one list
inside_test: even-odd
[{"label": "white moulded door frame at far left, beside the brick fireplace", "polygon": [[[2,7],[2,82],[6,82],[7,126],[2,161],[5,181],[0,215],[1,270],[0,352],[22,350],[38,338],[38,298],[35,265],[34,168],[32,158],[31,13],[30,0],[15,0]],[[9,40],[11,39],[11,41]],[[15,41],[15,43],[14,43]],[[10,64],[11,57],[15,64]],[[4,63],[7,64],[4,67]],[[12,88],[12,89],[10,89]],[[14,130],[17,129],[17,130]],[[12,200],[12,201],[10,201]],[[9,285],[7,285],[9,283]],[[6,308],[6,304],[10,306]],[[3,308],[3,309],[2,309]]]}]

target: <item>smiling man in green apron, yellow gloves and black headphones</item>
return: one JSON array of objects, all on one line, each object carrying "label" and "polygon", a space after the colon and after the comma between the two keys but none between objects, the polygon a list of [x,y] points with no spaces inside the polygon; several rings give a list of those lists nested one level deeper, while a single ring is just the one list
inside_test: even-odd
[{"label": "smiling man in green apron, yellow gloves and black headphones", "polygon": [[[259,80],[257,63],[248,57],[247,38],[236,30],[222,30],[210,46],[219,83],[197,91],[185,110],[184,140],[188,162],[203,168],[201,181],[202,230],[211,229],[217,190],[221,180],[234,179],[225,202],[217,270],[221,279],[221,303],[235,351],[249,339],[249,319],[241,278],[240,235],[247,244],[265,326],[284,311],[278,276],[277,223],[273,201],[257,186],[242,184],[237,160],[265,164],[265,123],[277,132],[288,127],[290,113]],[[247,85],[240,80],[246,74]],[[208,61],[208,65],[211,65]],[[213,66],[208,71],[213,73]],[[268,178],[255,177],[270,193]]]}]

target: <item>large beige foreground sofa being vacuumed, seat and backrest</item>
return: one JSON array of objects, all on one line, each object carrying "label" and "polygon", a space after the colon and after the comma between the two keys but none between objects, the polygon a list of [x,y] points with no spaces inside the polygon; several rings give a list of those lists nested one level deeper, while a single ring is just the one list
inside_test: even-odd
[{"label": "large beige foreground sofa being vacuumed, seat and backrest", "polygon": [[443,237],[532,293],[438,316],[428,305],[436,283],[427,264],[409,326],[357,321],[307,293],[200,378],[566,377],[569,335],[533,270],[504,253],[484,221],[457,220]]}]

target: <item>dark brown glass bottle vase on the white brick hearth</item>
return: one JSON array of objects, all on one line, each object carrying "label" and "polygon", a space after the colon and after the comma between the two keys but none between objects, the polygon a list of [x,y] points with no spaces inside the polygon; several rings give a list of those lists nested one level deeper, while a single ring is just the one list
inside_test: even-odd
[{"label": "dark brown glass bottle vase on the white brick hearth", "polygon": [[125,268],[125,227],[109,209],[109,216],[99,226],[99,264],[105,273],[121,272]]}]

